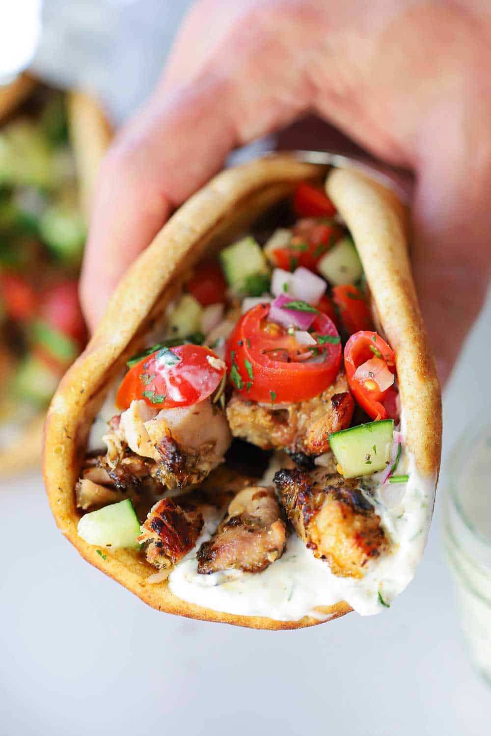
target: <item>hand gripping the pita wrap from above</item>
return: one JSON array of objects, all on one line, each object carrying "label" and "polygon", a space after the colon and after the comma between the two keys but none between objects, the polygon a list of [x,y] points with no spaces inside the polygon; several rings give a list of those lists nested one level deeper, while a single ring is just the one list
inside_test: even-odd
[{"label": "hand gripping the pita wrap from above", "polygon": [[411,260],[445,380],[491,273],[490,68],[484,0],[199,2],[102,166],[81,284],[89,324],[234,146],[314,110],[417,176]]}]

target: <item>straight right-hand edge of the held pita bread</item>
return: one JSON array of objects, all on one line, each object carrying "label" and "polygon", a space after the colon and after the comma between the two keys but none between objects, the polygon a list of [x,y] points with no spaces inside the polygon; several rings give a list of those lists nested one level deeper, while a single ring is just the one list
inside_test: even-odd
[{"label": "straight right-hand edge of the held pita bread", "polygon": [[356,243],[378,319],[395,351],[407,446],[419,472],[436,479],[442,399],[409,263],[406,213],[392,192],[354,171],[333,169],[326,189]]}]

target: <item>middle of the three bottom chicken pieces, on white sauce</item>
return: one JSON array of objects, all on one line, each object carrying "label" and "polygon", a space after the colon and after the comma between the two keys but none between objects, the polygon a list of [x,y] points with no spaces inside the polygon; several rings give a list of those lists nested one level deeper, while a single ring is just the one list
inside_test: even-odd
[{"label": "middle of the three bottom chicken pieces, on white sauce", "polygon": [[258,573],[283,554],[286,526],[272,488],[250,486],[230,503],[209,542],[199,548],[198,573],[235,567]]}]

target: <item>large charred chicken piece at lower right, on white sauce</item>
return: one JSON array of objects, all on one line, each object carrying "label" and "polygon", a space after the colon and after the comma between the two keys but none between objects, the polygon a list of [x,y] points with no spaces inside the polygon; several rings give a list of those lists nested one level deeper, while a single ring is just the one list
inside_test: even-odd
[{"label": "large charred chicken piece at lower right, on white sauce", "polygon": [[334,575],[361,578],[389,542],[358,481],[322,470],[279,470],[275,484],[295,531]]}]

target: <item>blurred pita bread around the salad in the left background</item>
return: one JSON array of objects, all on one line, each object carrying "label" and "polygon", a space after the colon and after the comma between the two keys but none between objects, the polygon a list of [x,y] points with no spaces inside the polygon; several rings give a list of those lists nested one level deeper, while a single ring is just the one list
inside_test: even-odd
[{"label": "blurred pita bread around the salad in the left background", "polygon": [[[0,123],[12,118],[15,110],[40,87],[35,77],[21,74],[0,90]],[[99,102],[91,95],[68,93],[68,124],[79,187],[80,208],[88,220],[99,163],[112,136],[110,125]],[[40,463],[45,414],[29,420],[21,434],[0,447],[0,478],[22,473]]]}]

